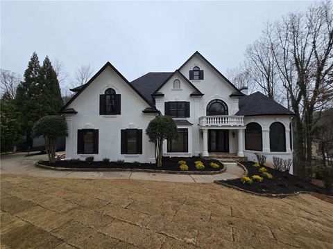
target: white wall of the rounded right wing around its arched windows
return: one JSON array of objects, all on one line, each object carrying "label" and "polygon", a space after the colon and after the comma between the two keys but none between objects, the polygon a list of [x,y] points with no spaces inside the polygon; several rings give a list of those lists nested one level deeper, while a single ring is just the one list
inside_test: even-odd
[{"label": "white wall of the rounded right wing around its arched windows", "polygon": [[[263,154],[267,156],[266,165],[273,167],[273,156],[280,157],[282,159],[293,159],[293,152],[290,146],[290,129],[289,124],[291,123],[291,116],[252,116],[245,117],[244,124],[247,125],[250,122],[257,122],[262,127],[262,151],[250,151],[246,150],[245,139],[244,139],[244,154],[248,157],[248,160],[257,162],[255,153]],[[273,122],[281,122],[284,124],[285,138],[286,138],[286,151],[285,152],[272,152],[270,149],[269,140],[269,127]],[[244,136],[245,138],[245,136]],[[290,174],[293,174],[293,166],[289,170]]]}]

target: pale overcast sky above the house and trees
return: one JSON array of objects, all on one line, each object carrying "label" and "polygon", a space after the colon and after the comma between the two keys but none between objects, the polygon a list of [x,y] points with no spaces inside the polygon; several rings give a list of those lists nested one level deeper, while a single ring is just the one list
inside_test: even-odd
[{"label": "pale overcast sky above the house and trees", "polygon": [[[198,50],[221,73],[236,67],[266,21],[309,1],[1,1],[1,68],[23,75],[33,51],[73,78],[110,61],[128,80],[174,71]],[[71,80],[69,80],[71,81]]]}]

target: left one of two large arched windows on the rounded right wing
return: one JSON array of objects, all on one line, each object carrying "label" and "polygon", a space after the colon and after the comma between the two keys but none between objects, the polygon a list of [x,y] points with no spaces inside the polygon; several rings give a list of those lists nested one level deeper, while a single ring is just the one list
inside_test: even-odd
[{"label": "left one of two large arched windows on the rounded right wing", "polygon": [[256,122],[250,122],[245,130],[245,149],[262,151],[262,127]]}]

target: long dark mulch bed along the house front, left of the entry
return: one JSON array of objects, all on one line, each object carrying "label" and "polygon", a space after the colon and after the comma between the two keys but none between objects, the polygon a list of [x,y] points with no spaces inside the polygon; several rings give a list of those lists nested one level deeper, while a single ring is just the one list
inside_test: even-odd
[{"label": "long dark mulch bed along the house front, left of the entry", "polygon": [[[178,162],[185,160],[189,167],[189,172],[214,172],[223,169],[222,163],[218,160],[209,160],[200,158],[198,156],[193,157],[164,157],[162,159],[162,167],[157,167],[155,163],[117,163],[117,162],[92,162],[87,163],[84,160],[56,160],[56,163],[49,163],[49,161],[41,161],[42,165],[51,167],[62,167],[62,168],[75,168],[75,169],[154,169],[154,170],[170,170],[180,171]],[[195,161],[200,160],[205,165],[205,169],[198,170],[195,167]],[[210,167],[210,163],[217,163],[220,165],[219,169]]]}]

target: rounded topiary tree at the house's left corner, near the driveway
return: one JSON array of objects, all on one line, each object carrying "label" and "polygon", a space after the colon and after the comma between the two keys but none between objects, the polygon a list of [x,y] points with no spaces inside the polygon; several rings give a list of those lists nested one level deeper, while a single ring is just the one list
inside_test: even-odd
[{"label": "rounded topiary tree at the house's left corner, near the driveway", "polygon": [[43,136],[45,149],[49,162],[56,162],[57,138],[67,136],[67,122],[64,116],[45,116],[35,122],[33,126],[34,136]]}]

